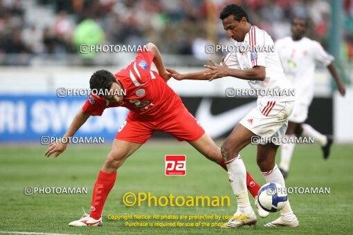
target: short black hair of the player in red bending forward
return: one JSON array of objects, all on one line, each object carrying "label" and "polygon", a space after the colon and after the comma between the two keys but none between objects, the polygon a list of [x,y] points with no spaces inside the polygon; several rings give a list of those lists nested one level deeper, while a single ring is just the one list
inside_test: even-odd
[{"label": "short black hair of the player in red bending forward", "polygon": [[110,90],[111,84],[114,82],[116,82],[116,77],[109,71],[101,69],[94,72],[91,79],[89,79],[89,88],[91,90],[107,91]]}]

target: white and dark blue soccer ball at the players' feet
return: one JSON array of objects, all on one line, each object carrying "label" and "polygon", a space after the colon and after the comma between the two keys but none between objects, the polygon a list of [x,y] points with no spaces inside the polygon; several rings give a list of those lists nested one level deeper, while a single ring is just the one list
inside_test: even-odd
[{"label": "white and dark blue soccer ball at the players' feet", "polygon": [[287,193],[284,188],[275,182],[262,186],[257,194],[257,203],[266,212],[278,212],[287,204]]}]

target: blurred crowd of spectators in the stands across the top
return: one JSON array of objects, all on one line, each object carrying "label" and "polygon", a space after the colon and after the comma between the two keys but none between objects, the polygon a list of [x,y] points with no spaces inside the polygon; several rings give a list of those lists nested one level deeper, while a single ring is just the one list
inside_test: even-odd
[{"label": "blurred crowd of spectators in the stands across the top", "polygon": [[[78,55],[84,43],[148,41],[164,54],[203,59],[205,44],[227,41],[219,12],[229,3],[243,6],[251,23],[274,40],[290,35],[294,16],[309,17],[308,36],[327,48],[328,0],[0,0],[0,64],[23,64],[11,54],[28,62],[33,55]],[[343,5],[344,44],[339,46],[342,57],[353,60],[353,0]]]}]

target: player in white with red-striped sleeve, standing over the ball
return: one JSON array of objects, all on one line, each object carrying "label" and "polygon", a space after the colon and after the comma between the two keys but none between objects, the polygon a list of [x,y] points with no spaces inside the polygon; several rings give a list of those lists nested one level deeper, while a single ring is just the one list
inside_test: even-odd
[{"label": "player in white with red-striped sleeve, standing over the ball", "polygon": [[[253,48],[255,46],[269,46],[275,48],[273,40],[264,30],[251,26],[248,15],[244,9],[237,4],[226,6],[221,14],[224,30],[228,37]],[[248,80],[248,84],[254,89],[291,89],[291,82],[286,79],[280,58],[275,50],[270,52],[250,50],[244,53],[233,52],[222,58],[221,64],[216,64],[210,59],[212,66],[205,65],[206,71],[199,73],[188,73],[181,75],[174,69],[167,71],[175,79],[199,79],[212,80],[220,77],[237,77]],[[221,146],[221,153],[227,164],[228,176],[233,193],[237,198],[237,212],[233,218],[224,223],[224,228],[241,227],[242,225],[253,225],[257,219],[251,208],[246,191],[246,168],[239,152],[251,143],[256,137],[271,138],[284,137],[287,130],[287,118],[294,106],[294,97],[282,96],[259,96],[257,106],[250,111],[235,126],[228,138]],[[278,143],[262,142],[257,144],[257,164],[262,171],[266,182],[277,182],[285,187],[282,173],[275,164],[275,154]],[[280,218],[265,226],[289,226],[298,227],[297,217],[291,210],[289,202],[280,211]]]}]

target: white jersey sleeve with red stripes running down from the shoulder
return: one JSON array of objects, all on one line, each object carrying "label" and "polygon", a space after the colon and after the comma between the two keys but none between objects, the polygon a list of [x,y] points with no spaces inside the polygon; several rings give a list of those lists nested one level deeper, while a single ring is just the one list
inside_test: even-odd
[{"label": "white jersey sleeve with red stripes running down from the shoulder", "polygon": [[257,50],[257,48],[264,48],[265,39],[264,31],[256,28],[255,26],[251,27],[248,32],[248,37],[245,40],[249,46],[247,50],[248,54],[248,64],[253,68],[255,66],[264,66],[265,64],[265,53],[262,50]]}]

